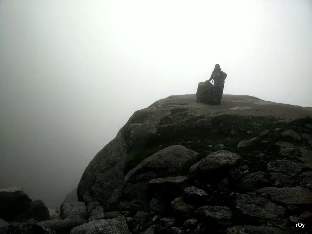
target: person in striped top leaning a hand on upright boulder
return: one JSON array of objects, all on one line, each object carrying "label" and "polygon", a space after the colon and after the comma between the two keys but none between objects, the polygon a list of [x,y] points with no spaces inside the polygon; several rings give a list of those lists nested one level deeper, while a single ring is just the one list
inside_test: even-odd
[{"label": "person in striped top leaning a hand on upright boulder", "polygon": [[224,88],[224,80],[226,78],[227,78],[227,73],[225,73],[224,71],[221,71],[220,65],[216,64],[215,69],[212,71],[210,79],[206,80],[207,82],[210,82],[210,80],[213,80],[212,105],[221,104],[223,88]]}]

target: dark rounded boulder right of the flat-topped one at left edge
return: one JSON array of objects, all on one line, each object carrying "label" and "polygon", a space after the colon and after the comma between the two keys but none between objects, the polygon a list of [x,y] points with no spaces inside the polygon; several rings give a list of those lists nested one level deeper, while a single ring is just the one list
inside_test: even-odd
[{"label": "dark rounded boulder right of the flat-topped one at left edge", "polygon": [[50,219],[49,210],[42,200],[36,200],[30,203],[28,209],[16,217],[14,221],[22,222],[27,219],[35,219],[38,222]]}]

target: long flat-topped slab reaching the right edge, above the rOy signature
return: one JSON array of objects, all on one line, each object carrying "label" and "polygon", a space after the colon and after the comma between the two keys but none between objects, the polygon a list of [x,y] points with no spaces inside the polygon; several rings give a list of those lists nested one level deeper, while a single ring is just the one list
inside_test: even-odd
[{"label": "long flat-topped slab reaching the right edge, above the rOy signature", "polygon": [[265,193],[270,196],[270,200],[290,204],[312,204],[312,193],[306,188],[260,188],[258,193]]}]

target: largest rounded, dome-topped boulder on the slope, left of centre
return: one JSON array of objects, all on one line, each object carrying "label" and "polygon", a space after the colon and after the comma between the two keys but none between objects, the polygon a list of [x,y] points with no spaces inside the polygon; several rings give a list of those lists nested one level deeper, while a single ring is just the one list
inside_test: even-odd
[{"label": "largest rounded, dome-topped boulder on the slope, left of centre", "polygon": [[[164,178],[185,171],[197,157],[198,153],[182,145],[172,145],[149,156],[124,177],[122,198],[127,200],[146,200],[149,180]],[[172,180],[168,178],[167,180]],[[185,178],[174,178],[185,181]],[[151,184],[157,186],[158,179]],[[170,182],[169,182],[170,183]]]}]

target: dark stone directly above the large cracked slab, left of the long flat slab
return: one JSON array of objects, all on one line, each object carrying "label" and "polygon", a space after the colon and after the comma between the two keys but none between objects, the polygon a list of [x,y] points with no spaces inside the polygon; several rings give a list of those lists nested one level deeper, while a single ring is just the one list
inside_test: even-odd
[{"label": "dark stone directly above the large cracked slab, left of the long flat slab", "polygon": [[238,186],[244,192],[251,192],[254,189],[267,186],[268,183],[266,173],[258,171],[245,175]]}]

